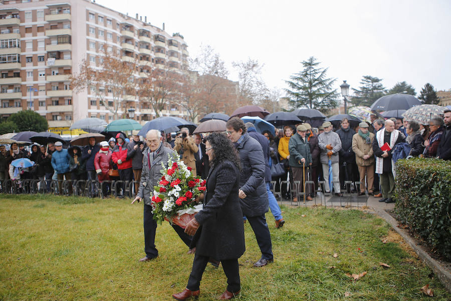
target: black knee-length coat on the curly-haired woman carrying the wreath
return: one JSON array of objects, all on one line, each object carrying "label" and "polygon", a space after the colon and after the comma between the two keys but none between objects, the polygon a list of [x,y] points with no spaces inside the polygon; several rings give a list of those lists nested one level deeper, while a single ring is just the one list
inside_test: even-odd
[{"label": "black knee-length coat on the curly-haired woman carrying the wreath", "polygon": [[200,226],[191,247],[196,247],[196,254],[217,260],[239,258],[246,246],[238,168],[230,161],[212,167],[206,188],[203,209],[194,217]]}]

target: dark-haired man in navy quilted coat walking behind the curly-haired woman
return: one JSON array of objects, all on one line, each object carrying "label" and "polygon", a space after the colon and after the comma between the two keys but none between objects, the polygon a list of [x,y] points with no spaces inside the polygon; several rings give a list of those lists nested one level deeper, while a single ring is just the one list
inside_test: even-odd
[{"label": "dark-haired man in navy quilted coat walking behind the curly-haired woman", "polygon": [[227,121],[225,128],[229,139],[240,154],[242,171],[240,177],[241,210],[254,230],[262,257],[254,266],[265,266],[273,262],[271,234],[266,223],[268,194],[265,187],[265,157],[260,143],[247,133],[246,125],[240,118]]}]

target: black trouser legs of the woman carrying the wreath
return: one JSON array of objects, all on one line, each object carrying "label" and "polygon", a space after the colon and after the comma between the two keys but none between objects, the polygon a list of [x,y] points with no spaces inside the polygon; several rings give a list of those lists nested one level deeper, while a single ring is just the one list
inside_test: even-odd
[{"label": "black trouser legs of the woman carrying the wreath", "polygon": [[[208,263],[208,256],[194,255],[192,262],[192,270],[189,274],[188,284],[186,288],[189,290],[198,290],[203,271]],[[240,269],[238,259],[221,260],[222,269],[227,276],[227,290],[230,292],[238,292],[241,289]]]}]

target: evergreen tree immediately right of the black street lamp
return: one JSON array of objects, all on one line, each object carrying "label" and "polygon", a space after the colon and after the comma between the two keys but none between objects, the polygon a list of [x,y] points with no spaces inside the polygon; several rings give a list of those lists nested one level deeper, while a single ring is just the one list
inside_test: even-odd
[{"label": "evergreen tree immediately right of the black street lamp", "polygon": [[385,87],[381,81],[381,78],[364,75],[359,89],[351,88],[355,93],[351,98],[351,103],[355,106],[371,106],[373,102],[385,94]]}]

